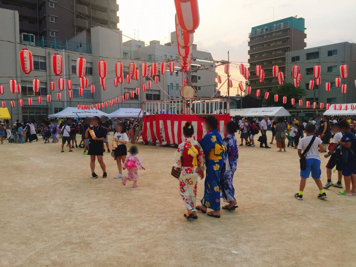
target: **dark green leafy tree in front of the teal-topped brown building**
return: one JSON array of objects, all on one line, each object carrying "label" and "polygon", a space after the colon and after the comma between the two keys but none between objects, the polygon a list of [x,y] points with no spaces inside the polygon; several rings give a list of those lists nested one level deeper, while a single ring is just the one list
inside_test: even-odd
[{"label": "dark green leafy tree in front of the teal-topped brown building", "polygon": [[[274,101],[274,95],[278,94],[278,102]],[[295,88],[291,83],[285,83],[280,87],[274,87],[269,92],[269,97],[267,100],[262,102],[263,107],[284,107],[285,109],[293,109],[295,105],[298,105],[299,99],[301,99],[306,94],[305,89],[298,87]],[[264,97],[264,94],[261,96]],[[287,103],[283,104],[283,96],[287,96]],[[295,99],[295,105],[290,104],[290,99]]]}]

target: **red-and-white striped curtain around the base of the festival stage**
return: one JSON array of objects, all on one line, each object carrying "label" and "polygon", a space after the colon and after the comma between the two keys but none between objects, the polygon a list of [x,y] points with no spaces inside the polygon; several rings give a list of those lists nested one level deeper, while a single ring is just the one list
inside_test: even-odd
[{"label": "red-and-white striped curtain around the base of the festival stage", "polygon": [[[218,119],[218,130],[222,137],[223,126],[229,122],[230,115],[215,115]],[[183,126],[186,122],[190,122],[194,127],[194,138],[200,140],[206,131],[203,129],[203,117],[197,115],[174,115],[174,114],[158,114],[143,117],[143,133],[142,139],[144,142],[156,142],[160,145],[178,145],[184,140]]]}]

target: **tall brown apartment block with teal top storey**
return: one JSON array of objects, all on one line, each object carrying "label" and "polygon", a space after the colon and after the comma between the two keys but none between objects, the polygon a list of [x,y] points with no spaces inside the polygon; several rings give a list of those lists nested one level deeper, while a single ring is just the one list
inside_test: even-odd
[{"label": "tall brown apartment block with teal top storey", "polygon": [[[304,33],[303,18],[289,17],[269,22],[251,28],[249,33],[248,63],[251,76],[249,85],[252,90],[271,90],[278,84],[272,75],[272,67],[279,66],[279,70],[286,74],[286,53],[304,49],[307,34]],[[260,83],[255,76],[255,66],[261,65],[265,70],[265,80]]]}]

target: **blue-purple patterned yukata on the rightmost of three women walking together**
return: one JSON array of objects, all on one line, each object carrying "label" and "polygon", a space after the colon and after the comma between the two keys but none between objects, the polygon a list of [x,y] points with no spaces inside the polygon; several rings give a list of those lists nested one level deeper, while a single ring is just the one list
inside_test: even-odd
[{"label": "blue-purple patterned yukata on the rightmost of three women walking together", "polygon": [[225,153],[223,154],[223,168],[220,176],[221,197],[225,202],[236,200],[232,178],[237,168],[239,149],[235,134],[229,134],[223,139]]}]

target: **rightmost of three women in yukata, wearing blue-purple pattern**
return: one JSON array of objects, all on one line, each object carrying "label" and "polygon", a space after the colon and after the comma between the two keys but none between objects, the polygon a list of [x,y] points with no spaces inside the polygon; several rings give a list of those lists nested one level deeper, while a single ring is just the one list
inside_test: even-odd
[{"label": "rightmost of three women in yukata, wearing blue-purple pattern", "polygon": [[234,197],[235,189],[232,185],[232,178],[237,168],[237,159],[239,157],[239,149],[235,138],[236,124],[229,121],[223,128],[224,134],[227,136],[223,139],[225,153],[223,154],[223,168],[220,176],[221,197],[228,205],[223,206],[223,209],[235,210],[237,202]]}]

